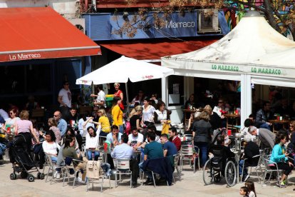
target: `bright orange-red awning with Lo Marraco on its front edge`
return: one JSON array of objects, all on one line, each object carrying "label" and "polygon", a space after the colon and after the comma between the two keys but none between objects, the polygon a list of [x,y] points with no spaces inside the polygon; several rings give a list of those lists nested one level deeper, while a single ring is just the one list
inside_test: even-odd
[{"label": "bright orange-red awning with Lo Marraco on its front edge", "polygon": [[100,46],[50,7],[0,9],[0,62],[100,55]]}]

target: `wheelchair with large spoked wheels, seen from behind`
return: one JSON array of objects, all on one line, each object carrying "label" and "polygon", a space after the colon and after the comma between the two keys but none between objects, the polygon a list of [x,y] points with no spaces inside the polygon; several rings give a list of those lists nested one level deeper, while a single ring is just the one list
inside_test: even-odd
[{"label": "wheelchair with large spoked wheels, seen from behind", "polygon": [[[235,158],[227,158],[226,162],[221,153],[213,153],[214,157],[210,158],[203,167],[203,181],[205,185],[219,183],[224,176],[227,186],[232,187],[237,183],[237,162]],[[225,168],[224,164],[225,163]]]}]

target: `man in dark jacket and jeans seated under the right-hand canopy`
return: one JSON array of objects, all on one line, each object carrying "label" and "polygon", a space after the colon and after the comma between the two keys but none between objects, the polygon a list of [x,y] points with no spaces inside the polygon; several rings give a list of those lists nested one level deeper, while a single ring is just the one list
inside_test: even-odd
[{"label": "man in dark jacket and jeans seated under the right-hand canopy", "polygon": [[269,123],[269,119],[273,118],[273,114],[270,111],[271,104],[269,101],[263,103],[263,108],[259,109],[256,113],[256,123],[259,128],[267,128],[271,130],[271,123]]}]

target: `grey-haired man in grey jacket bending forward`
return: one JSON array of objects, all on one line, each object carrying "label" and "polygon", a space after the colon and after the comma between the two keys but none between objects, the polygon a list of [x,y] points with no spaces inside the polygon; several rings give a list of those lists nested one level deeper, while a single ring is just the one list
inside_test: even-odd
[{"label": "grey-haired man in grey jacket bending forward", "polygon": [[249,126],[248,132],[252,136],[258,136],[257,144],[260,144],[260,148],[274,148],[274,141],[276,135],[266,128],[256,128],[255,126]]}]

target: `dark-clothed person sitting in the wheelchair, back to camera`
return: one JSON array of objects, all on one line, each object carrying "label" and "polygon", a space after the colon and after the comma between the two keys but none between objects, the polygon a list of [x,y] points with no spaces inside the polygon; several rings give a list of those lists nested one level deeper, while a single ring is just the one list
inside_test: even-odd
[{"label": "dark-clothed person sitting in the wheelchair, back to camera", "polygon": [[224,169],[227,164],[227,159],[234,159],[235,155],[229,147],[224,146],[224,137],[217,136],[217,145],[212,145],[209,148],[209,158],[212,160],[214,171],[220,171],[224,176]]}]

